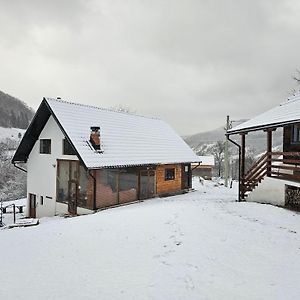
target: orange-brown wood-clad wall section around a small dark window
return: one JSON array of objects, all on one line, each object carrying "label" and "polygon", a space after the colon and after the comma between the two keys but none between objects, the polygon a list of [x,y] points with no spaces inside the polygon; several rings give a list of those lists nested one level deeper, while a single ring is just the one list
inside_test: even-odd
[{"label": "orange-brown wood-clad wall section around a small dark window", "polygon": [[[165,180],[165,169],[175,168],[175,179]],[[181,190],[181,165],[161,165],[156,168],[156,192],[163,194]]]}]

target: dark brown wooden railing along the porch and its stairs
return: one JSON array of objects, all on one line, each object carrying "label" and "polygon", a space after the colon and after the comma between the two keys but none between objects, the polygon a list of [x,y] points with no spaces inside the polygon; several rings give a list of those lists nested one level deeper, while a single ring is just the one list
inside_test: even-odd
[{"label": "dark brown wooden railing along the porch and its stairs", "polygon": [[265,176],[300,181],[300,152],[266,152],[241,178],[241,199]]}]

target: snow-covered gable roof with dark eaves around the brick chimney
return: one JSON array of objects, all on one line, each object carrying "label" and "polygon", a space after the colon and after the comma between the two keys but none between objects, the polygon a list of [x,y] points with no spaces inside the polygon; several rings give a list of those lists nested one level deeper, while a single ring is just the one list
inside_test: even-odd
[{"label": "snow-covered gable roof with dark eaves around the brick chimney", "polygon": [[[200,161],[164,121],[99,107],[44,98],[13,162],[26,162],[50,115],[88,169]],[[99,126],[99,153],[89,144],[90,127]]]}]

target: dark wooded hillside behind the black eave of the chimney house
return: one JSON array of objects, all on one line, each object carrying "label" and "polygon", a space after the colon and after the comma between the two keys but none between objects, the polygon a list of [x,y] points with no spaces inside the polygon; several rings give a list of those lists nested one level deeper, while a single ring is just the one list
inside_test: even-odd
[{"label": "dark wooded hillside behind the black eave of the chimney house", "polygon": [[26,129],[33,114],[27,104],[0,91],[0,127]]}]

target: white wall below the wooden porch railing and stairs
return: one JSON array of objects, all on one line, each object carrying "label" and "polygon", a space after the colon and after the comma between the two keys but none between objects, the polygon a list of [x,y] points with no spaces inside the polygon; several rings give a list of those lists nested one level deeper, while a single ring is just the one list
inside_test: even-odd
[{"label": "white wall below the wooden porch railing and stairs", "polygon": [[264,180],[247,197],[247,201],[285,205],[285,185],[300,187],[300,183],[265,177]]}]

